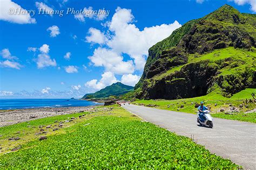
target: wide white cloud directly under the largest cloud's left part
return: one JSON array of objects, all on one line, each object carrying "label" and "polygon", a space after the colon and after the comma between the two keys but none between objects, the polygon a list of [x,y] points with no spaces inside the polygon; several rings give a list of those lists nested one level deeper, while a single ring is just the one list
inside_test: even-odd
[{"label": "wide white cloud directly under the largest cloud's left part", "polygon": [[106,72],[129,74],[134,72],[133,62],[123,61],[123,57],[106,48],[97,48],[89,59],[94,66],[103,66]]}]

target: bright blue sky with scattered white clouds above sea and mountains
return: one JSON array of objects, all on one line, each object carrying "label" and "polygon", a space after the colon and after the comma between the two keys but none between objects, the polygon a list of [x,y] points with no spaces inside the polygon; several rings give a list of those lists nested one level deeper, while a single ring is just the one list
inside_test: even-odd
[{"label": "bright blue sky with scattered white clouds above sea and mountains", "polygon": [[[256,12],[255,0],[3,0],[0,98],[82,97],[117,81],[134,86],[148,48],[224,4]],[[66,14],[72,8],[84,14]]]}]

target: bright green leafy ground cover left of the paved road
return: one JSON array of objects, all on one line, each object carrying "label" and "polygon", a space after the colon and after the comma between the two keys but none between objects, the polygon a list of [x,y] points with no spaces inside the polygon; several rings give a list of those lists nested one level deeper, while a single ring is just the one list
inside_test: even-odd
[{"label": "bright green leafy ground cover left of the paved road", "polygon": [[[52,124],[53,120],[61,119],[62,116],[55,116],[43,118],[43,122],[41,119],[30,122]],[[120,107],[100,107],[75,120],[72,125],[64,126],[62,133],[47,134],[48,139],[42,141],[31,138],[20,150],[0,155],[0,169],[238,168],[190,138],[143,122]],[[16,129],[12,126],[17,125],[0,130],[14,133]],[[24,123],[20,128],[27,130]]]}]

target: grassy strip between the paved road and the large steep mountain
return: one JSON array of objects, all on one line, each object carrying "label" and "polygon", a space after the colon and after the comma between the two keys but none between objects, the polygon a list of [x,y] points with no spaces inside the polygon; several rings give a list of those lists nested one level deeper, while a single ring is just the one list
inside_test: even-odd
[{"label": "grassy strip between the paved road and the large steep mountain", "polygon": [[[207,107],[211,107],[211,113],[213,117],[256,123],[255,113],[244,114],[244,112],[250,111],[255,108],[255,103],[245,103],[245,99],[252,99],[252,93],[256,93],[256,89],[247,88],[235,94],[231,98],[226,98],[222,96],[221,93],[218,92],[218,90],[214,90],[206,96],[194,98],[183,98],[178,100],[137,100],[133,103],[143,105],[153,104],[157,105],[158,109],[196,114],[197,108],[195,108],[194,105],[196,103],[204,101]],[[240,104],[242,104],[242,108],[239,107]],[[183,107],[181,107],[181,105],[183,105]],[[231,112],[231,105],[237,108],[239,112],[234,112],[234,115],[226,115],[226,112]],[[224,109],[225,111],[220,112],[220,109]]]}]

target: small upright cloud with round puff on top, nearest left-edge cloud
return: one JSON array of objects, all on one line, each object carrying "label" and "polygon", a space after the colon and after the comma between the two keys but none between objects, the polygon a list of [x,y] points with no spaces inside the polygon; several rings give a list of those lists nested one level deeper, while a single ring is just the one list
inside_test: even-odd
[{"label": "small upright cloud with round puff on top, nearest left-edge cloud", "polygon": [[39,48],[41,54],[38,54],[37,58],[37,68],[44,68],[49,66],[56,66],[57,63],[55,59],[51,59],[50,55],[48,54],[50,51],[49,45],[44,44]]}]

